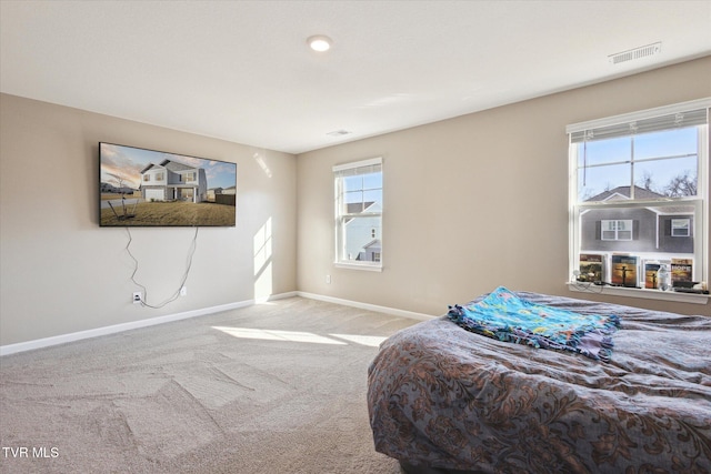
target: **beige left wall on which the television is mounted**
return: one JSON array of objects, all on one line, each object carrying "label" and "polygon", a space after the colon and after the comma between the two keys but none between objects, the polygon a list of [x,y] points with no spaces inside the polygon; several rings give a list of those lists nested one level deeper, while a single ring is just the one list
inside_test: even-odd
[{"label": "beige left wall on which the television is mounted", "polygon": [[[293,155],[7,94],[0,100],[0,345],[297,290]],[[128,234],[98,226],[99,141],[238,164],[237,226],[200,229],[188,295],[161,310],[131,303],[138,289]],[[254,236],[268,221],[271,258],[262,265],[258,255],[256,269]],[[131,230],[149,303],[179,285],[193,233]]]}]

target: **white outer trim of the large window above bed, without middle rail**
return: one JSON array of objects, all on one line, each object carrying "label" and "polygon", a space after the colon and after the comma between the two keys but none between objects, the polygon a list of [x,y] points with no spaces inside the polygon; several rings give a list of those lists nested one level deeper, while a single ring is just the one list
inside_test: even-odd
[{"label": "white outer trim of the large window above bed, without middle rail", "polygon": [[[581,132],[584,130],[595,129],[600,127],[613,125],[617,123],[624,122],[633,122],[635,120],[643,120],[652,115],[665,115],[677,112],[683,112],[687,110],[701,109],[707,108],[711,109],[711,97],[692,100],[688,102],[680,102],[671,105],[664,105],[653,109],[641,110],[632,113],[624,113],[620,115],[609,117],[604,119],[590,120],[587,122],[578,122],[572,123],[565,127],[565,133],[570,137],[573,132]],[[694,253],[701,251],[703,254],[702,258],[702,274],[705,279],[710,278],[709,274],[709,261],[711,261],[711,255],[709,255],[709,230],[711,229],[711,223],[709,222],[709,205],[711,205],[710,201],[710,191],[709,191],[709,169],[711,165],[711,149],[709,148],[709,129],[711,128],[711,123],[707,124],[705,132],[700,133],[700,147],[705,147],[707,160],[699,160],[699,186],[703,193],[701,195],[701,201],[703,202],[703,209],[701,212],[703,213],[703,229],[701,231],[701,239],[695,239],[694,242]],[[575,186],[570,185],[572,180],[577,180],[575,175],[577,164],[575,161],[570,157],[568,160],[568,231],[569,231],[569,245],[568,245],[568,260],[569,266],[571,271],[569,272],[570,280],[568,281],[568,289],[570,291],[575,292],[587,292],[587,293],[598,293],[598,294],[611,294],[611,295],[620,295],[620,296],[632,296],[648,300],[664,300],[672,302],[683,302],[683,303],[698,303],[698,304],[708,304],[709,295],[707,294],[692,294],[692,293],[675,293],[669,291],[652,291],[644,289],[630,289],[630,288],[612,288],[612,286],[597,286],[592,283],[581,283],[573,281],[572,279],[572,269],[574,269],[573,262],[575,261],[577,249],[580,245],[580,236],[575,233],[579,231],[579,226],[574,225],[574,220],[579,219],[579,212],[575,212],[577,206],[577,190]],[[575,181],[577,182],[577,181]],[[709,282],[707,282],[709,284]]]}]

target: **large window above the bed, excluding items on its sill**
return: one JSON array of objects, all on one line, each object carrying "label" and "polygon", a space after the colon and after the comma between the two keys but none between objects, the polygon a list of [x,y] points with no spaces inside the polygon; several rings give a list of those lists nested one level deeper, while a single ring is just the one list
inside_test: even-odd
[{"label": "large window above the bed, excluding items on its sill", "polygon": [[614,282],[613,255],[623,254],[637,261],[641,289],[645,270],[681,261],[692,262],[692,281],[708,280],[710,105],[707,98],[567,128],[571,275],[594,256],[602,282]]}]

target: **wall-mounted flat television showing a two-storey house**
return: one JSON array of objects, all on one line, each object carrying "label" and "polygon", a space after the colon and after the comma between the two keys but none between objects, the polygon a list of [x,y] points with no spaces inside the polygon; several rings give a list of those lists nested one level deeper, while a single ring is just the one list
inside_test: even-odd
[{"label": "wall-mounted flat television showing a two-storey house", "polygon": [[101,226],[234,226],[237,164],[99,143]]}]

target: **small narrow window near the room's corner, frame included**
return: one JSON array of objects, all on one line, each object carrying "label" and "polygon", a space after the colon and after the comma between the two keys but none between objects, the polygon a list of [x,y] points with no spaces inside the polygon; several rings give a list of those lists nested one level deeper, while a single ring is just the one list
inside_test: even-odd
[{"label": "small narrow window near the room's corner, frame included", "polygon": [[382,269],[382,159],[333,167],[336,263]]}]

